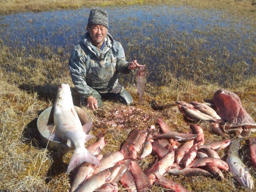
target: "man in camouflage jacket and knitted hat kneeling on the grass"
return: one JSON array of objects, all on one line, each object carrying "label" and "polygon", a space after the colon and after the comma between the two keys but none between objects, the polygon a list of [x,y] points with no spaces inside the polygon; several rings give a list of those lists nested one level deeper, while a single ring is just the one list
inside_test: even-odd
[{"label": "man in camouflage jacket and knitted hat kneeling on the grass", "polygon": [[81,104],[97,109],[102,98],[132,104],[132,96],[118,83],[118,73],[129,74],[141,65],[125,60],[122,45],[108,33],[108,13],[98,7],[90,11],[87,32],[73,48],[69,70]]}]

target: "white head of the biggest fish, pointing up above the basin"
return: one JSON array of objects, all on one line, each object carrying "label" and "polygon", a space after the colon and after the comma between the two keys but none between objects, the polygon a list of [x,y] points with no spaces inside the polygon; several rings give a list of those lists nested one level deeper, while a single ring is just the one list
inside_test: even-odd
[{"label": "white head of the biggest fish, pointing up above the basin", "polygon": [[58,87],[57,97],[55,100],[55,105],[61,107],[73,106],[73,100],[71,95],[71,90],[68,84],[61,84]]}]

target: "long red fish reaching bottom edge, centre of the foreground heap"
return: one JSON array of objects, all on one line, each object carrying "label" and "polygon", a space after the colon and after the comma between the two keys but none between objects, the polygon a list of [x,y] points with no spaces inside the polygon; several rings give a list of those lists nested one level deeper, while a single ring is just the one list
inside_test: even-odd
[{"label": "long red fish reaching bottom edge, centre of the foreground heap", "polygon": [[137,190],[140,192],[151,191],[151,184],[149,182],[149,179],[136,160],[131,160],[129,169],[132,173],[133,178],[135,179]]}]

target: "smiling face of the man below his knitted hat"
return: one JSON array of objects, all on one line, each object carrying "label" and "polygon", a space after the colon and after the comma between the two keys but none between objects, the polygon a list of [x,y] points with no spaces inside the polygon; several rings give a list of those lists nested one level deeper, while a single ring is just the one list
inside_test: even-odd
[{"label": "smiling face of the man below his knitted hat", "polygon": [[89,32],[92,44],[94,45],[102,44],[108,33],[108,29],[103,25],[90,25],[89,27],[87,26],[86,29]]}]

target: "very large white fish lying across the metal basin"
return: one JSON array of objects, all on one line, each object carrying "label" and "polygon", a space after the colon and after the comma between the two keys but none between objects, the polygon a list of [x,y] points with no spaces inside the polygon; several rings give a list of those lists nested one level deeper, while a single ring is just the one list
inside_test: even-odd
[{"label": "very large white fish lying across the metal basin", "polygon": [[86,129],[88,125],[85,124],[82,126],[79,120],[68,84],[61,84],[58,88],[57,98],[54,104],[53,119],[54,125],[56,126],[56,134],[62,141],[67,141],[69,147],[75,148],[74,154],[68,164],[68,173],[83,162],[101,166],[100,161],[84,146],[84,143],[94,138],[94,136],[87,135],[84,132],[86,131],[84,129]]}]

